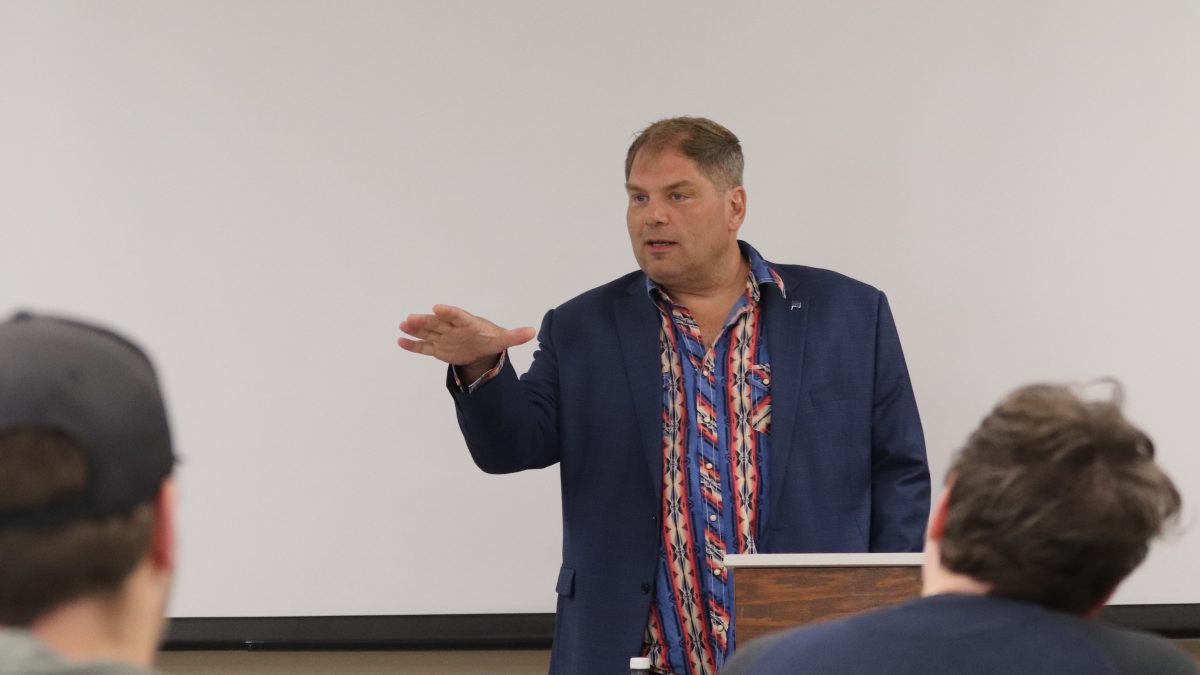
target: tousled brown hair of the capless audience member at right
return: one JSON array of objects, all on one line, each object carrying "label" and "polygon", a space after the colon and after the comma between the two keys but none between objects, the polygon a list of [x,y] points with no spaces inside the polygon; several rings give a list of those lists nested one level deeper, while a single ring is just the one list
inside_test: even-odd
[{"label": "tousled brown hair of the capless audience member at right", "polygon": [[991,595],[1086,613],[1180,512],[1154,446],[1111,400],[1024,387],[984,418],[949,471],[941,562]]}]

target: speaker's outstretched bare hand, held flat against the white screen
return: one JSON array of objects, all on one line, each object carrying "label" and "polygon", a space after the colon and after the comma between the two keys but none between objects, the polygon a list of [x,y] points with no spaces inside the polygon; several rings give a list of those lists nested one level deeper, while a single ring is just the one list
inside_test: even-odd
[{"label": "speaker's outstretched bare hand, held flat against the white screen", "polygon": [[[482,375],[509,347],[533,340],[533,327],[500,328],[484,317],[451,305],[433,305],[433,313],[410,313],[400,329],[415,339],[401,338],[402,350],[433,357]],[[480,370],[481,369],[481,370]]]}]

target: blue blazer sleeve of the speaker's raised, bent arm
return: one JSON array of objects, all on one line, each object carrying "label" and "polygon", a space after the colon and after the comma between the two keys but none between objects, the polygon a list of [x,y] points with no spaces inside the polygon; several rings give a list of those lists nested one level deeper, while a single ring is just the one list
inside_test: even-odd
[{"label": "blue blazer sleeve of the speaker's raised, bent arm", "polygon": [[517,378],[510,359],[496,377],[463,392],[454,371],[446,388],[454,398],[470,456],[487,473],[542,468],[558,461],[558,360],[552,339],[553,310],[538,333],[529,371]]}]

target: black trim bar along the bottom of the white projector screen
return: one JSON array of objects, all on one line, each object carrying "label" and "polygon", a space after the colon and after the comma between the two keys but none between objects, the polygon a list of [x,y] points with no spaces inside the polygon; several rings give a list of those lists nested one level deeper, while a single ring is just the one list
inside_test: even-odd
[{"label": "black trim bar along the bottom of the white projector screen", "polygon": [[[1106,608],[1109,623],[1166,638],[1200,638],[1200,604]],[[550,649],[553,614],[173,619],[167,650]]]}]

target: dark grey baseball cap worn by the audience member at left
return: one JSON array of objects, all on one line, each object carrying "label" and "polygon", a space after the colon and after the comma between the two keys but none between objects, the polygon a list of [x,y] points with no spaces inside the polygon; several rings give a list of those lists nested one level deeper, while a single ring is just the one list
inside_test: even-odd
[{"label": "dark grey baseball cap worn by the audience member at left", "polygon": [[0,528],[54,527],[131,513],[175,465],[158,377],[128,339],[100,325],[19,312],[0,323],[0,436],[62,434],[83,452],[86,488],[0,513]]}]

